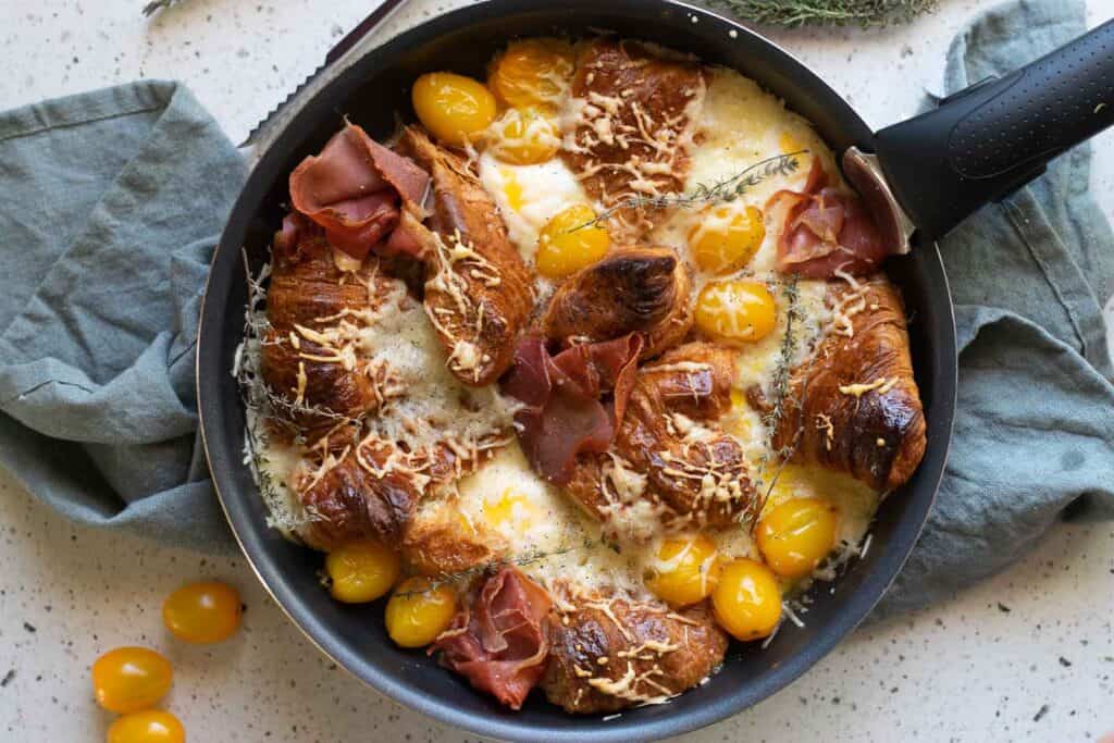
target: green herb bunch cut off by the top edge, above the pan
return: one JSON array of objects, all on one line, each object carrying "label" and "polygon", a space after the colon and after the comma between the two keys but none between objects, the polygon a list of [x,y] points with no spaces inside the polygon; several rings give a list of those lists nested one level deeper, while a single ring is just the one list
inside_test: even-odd
[{"label": "green herb bunch cut off by the top edge, above the pan", "polygon": [[765,26],[861,26],[908,23],[938,0],[709,0],[742,20]]}]

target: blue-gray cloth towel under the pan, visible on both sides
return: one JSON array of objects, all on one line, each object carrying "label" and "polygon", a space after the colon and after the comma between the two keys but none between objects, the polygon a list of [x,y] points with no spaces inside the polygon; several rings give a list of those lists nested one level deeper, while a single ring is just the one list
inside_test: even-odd
[{"label": "blue-gray cloth towel under the pan, visible on both sides", "polygon": [[[948,90],[1083,32],[1076,1],[1010,3],[948,56]],[[1081,147],[942,244],[959,411],[929,526],[881,613],[946,596],[1065,512],[1114,516],[1114,387],[1100,301],[1114,236]],[[231,546],[196,440],[205,267],[242,183],[188,91],[141,82],[0,114],[0,462],[70,517]]]}]

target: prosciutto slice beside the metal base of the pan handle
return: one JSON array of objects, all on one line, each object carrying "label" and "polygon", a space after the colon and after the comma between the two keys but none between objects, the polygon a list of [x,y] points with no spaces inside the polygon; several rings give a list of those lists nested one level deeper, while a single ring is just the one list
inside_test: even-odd
[{"label": "prosciutto slice beside the metal base of the pan handle", "polygon": [[853,193],[830,184],[819,158],[804,192],[782,189],[766,202],[766,212],[782,224],[778,242],[778,270],[804,278],[831,278],[837,271],[871,273],[896,252],[888,246]]}]

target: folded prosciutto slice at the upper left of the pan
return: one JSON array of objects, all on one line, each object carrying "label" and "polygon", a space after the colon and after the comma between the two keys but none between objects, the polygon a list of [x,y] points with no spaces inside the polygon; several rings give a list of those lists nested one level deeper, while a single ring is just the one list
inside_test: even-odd
[{"label": "folded prosciutto slice at the upper left of the pan", "polygon": [[[402,208],[421,211],[428,185],[429,176],[412,160],[346,124],[320,155],[294,168],[290,196],[297,212],[324,228],[330,244],[363,258],[394,231]],[[387,252],[417,250],[413,241],[389,244]]]}]

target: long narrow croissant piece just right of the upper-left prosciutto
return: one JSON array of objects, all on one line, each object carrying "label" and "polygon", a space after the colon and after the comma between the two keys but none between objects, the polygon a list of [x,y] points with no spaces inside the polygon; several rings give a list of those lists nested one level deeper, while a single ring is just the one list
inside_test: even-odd
[{"label": "long narrow croissant piece just right of the upper-left prosciutto", "polygon": [[458,155],[413,126],[400,150],[432,178],[426,225],[402,216],[403,227],[426,248],[426,311],[457,379],[489,384],[514,361],[515,342],[534,307],[534,282],[495,203]]}]

